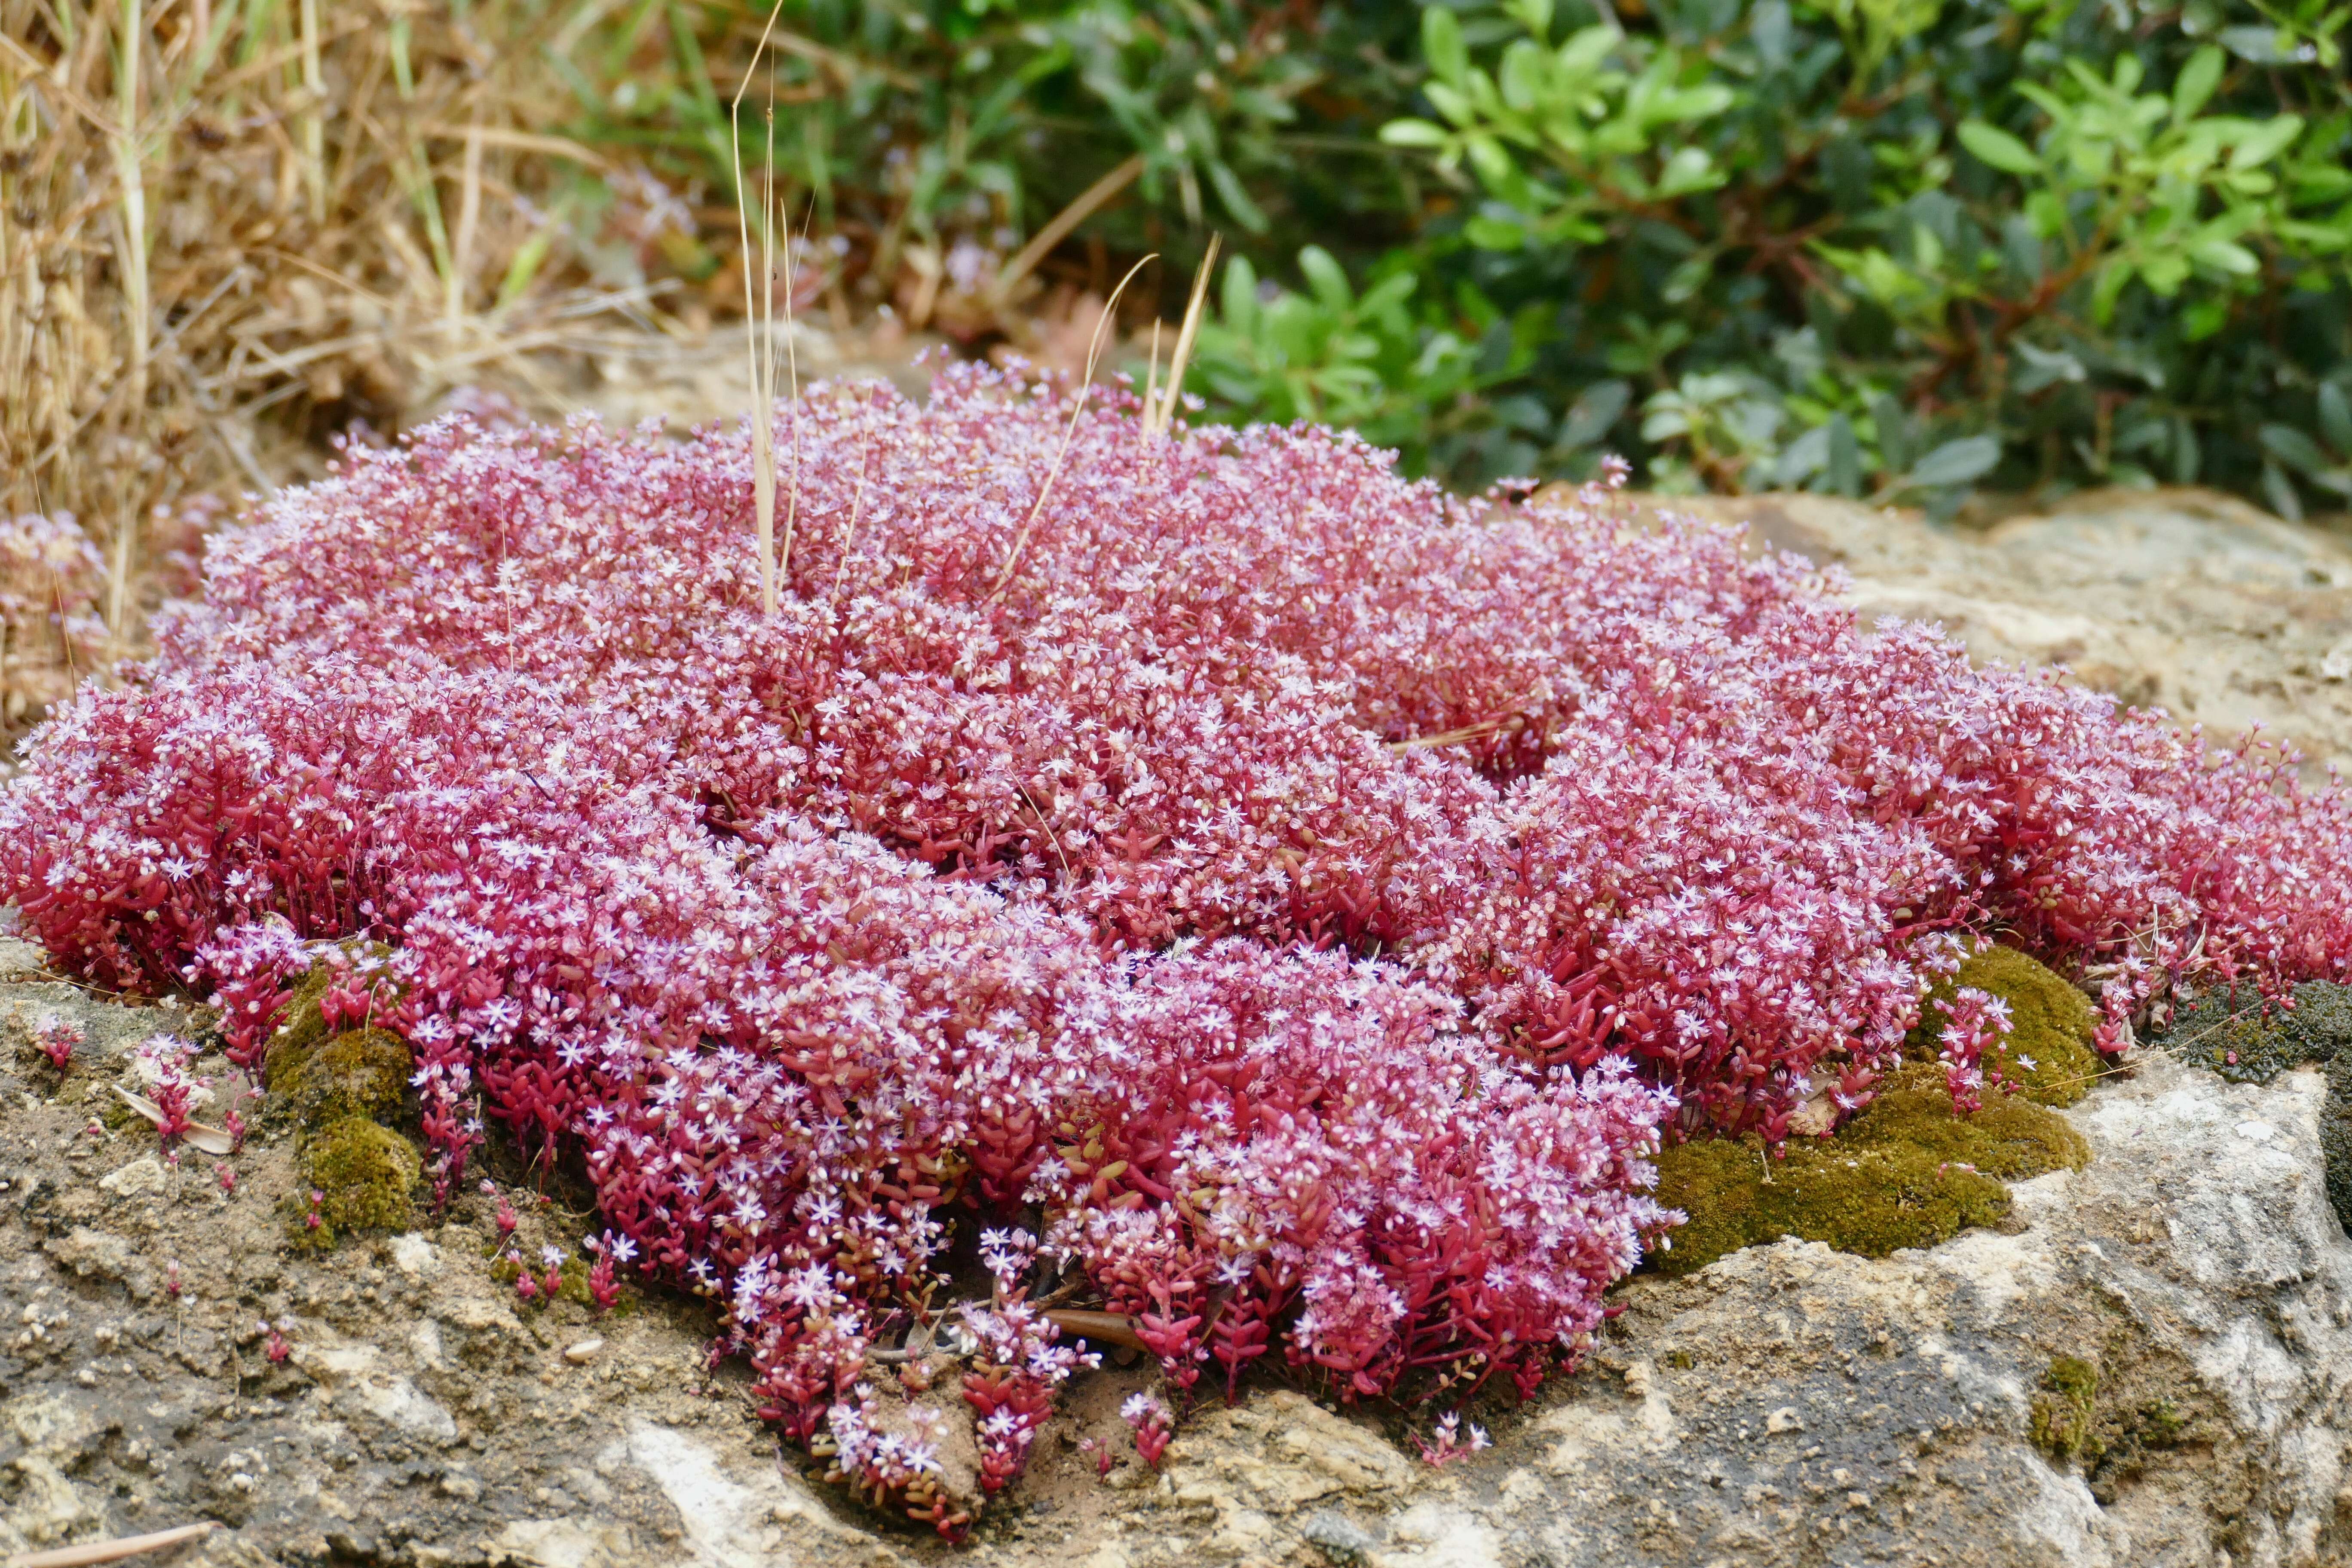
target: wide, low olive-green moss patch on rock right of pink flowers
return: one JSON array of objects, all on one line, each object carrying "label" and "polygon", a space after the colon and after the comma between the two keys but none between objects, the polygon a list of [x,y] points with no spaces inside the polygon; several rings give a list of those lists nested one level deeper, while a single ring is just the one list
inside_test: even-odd
[{"label": "wide, low olive-green moss patch on rock right of pink flowers", "polygon": [[1933,1246],[2009,1213],[2009,1187],[2082,1166],[2089,1145],[2063,1117],[2023,1095],[1987,1095],[1973,1117],[1952,1112],[1943,1070],[1910,1065],[1828,1140],[1698,1140],[1658,1157],[1658,1199],[1689,1222],[1651,1255],[1661,1274],[1703,1269],[1726,1253],[1780,1237],[1884,1258]]}]

